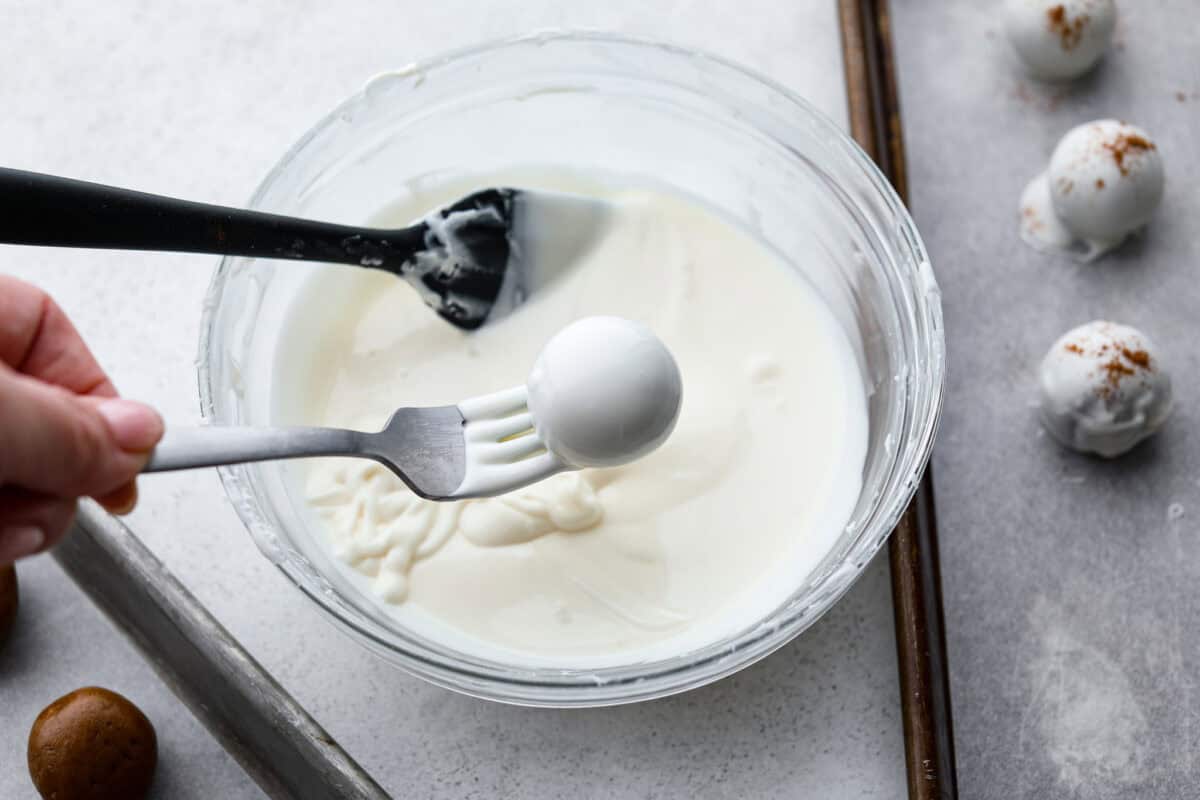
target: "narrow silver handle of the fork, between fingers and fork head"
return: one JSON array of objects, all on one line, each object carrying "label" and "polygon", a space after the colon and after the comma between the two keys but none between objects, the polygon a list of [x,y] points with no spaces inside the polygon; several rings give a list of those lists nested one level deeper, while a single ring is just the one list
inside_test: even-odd
[{"label": "narrow silver handle of the fork, between fingers and fork head", "polygon": [[143,473],[311,456],[361,456],[371,435],[341,428],[215,426],[167,431]]}]

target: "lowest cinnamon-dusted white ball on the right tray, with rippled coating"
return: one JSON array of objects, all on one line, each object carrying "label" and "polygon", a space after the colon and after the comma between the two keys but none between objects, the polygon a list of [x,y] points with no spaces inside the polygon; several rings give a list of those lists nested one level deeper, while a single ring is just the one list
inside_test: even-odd
[{"label": "lowest cinnamon-dusted white ball on the right tray, with rippled coating", "polygon": [[1111,458],[1163,426],[1171,378],[1136,329],[1093,321],[1068,331],[1042,360],[1042,422],[1061,444]]}]

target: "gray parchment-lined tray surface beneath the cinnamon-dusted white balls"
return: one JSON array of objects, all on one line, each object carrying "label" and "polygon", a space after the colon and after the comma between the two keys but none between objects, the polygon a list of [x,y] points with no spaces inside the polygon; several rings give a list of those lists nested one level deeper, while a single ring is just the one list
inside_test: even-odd
[{"label": "gray parchment-lined tray surface beneath the cinnamon-dusted white balls", "polygon": [[[964,798],[1183,798],[1200,786],[1200,6],[1118,2],[1116,47],[1067,88],[1024,78],[991,0],[894,0],[912,207],[946,303],[935,451]],[[1018,197],[1058,137],[1148,130],[1166,196],[1092,265],[1040,255]],[[1042,435],[1037,365],[1097,318],[1145,330],[1174,419],[1102,462]]]}]

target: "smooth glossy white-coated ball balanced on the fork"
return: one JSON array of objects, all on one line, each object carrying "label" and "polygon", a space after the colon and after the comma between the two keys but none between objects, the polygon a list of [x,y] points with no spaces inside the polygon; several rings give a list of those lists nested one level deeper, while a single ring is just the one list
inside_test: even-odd
[{"label": "smooth glossy white-coated ball balanced on the fork", "polygon": [[679,367],[644,325],[619,317],[571,323],[542,348],[529,410],[546,447],[576,467],[616,467],[649,453],[674,429]]}]

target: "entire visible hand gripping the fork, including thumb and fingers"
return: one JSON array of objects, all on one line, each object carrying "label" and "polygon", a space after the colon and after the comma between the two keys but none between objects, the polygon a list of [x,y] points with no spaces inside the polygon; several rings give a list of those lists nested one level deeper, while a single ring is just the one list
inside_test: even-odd
[{"label": "entire visible hand gripping the fork, including thumb and fingers", "polygon": [[116,396],[46,293],[0,276],[0,564],[58,542],[78,498],[132,511],[162,432],[155,410]]}]

